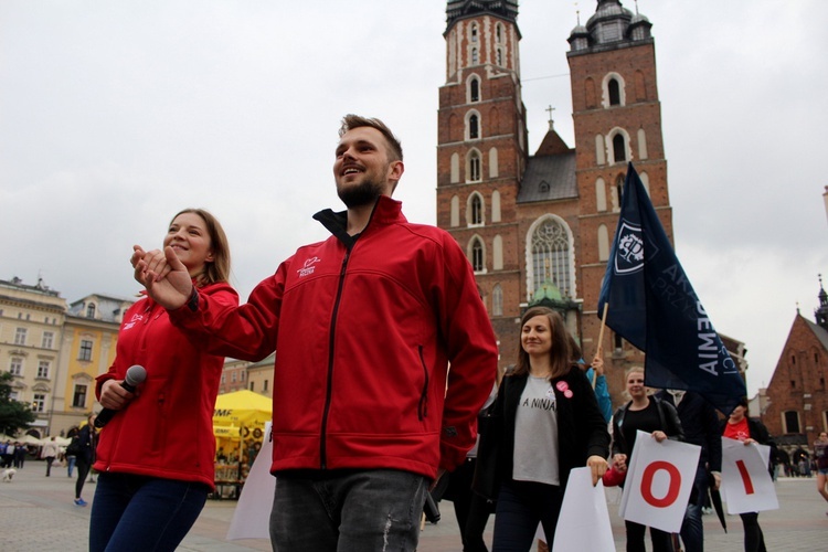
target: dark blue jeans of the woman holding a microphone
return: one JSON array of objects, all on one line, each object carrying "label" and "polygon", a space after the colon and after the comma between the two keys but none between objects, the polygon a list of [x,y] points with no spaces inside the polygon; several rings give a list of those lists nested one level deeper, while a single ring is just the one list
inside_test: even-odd
[{"label": "dark blue jeans of the woman holding a microphone", "polygon": [[89,551],[172,551],[204,508],[210,488],[130,474],[99,474]]}]

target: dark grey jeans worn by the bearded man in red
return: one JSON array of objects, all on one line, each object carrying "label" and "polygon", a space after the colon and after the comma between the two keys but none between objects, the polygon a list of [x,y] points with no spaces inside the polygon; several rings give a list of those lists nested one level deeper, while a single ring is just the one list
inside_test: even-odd
[{"label": "dark grey jeans worn by the bearded man in red", "polygon": [[270,543],[278,551],[416,550],[428,480],[393,469],[278,474]]}]

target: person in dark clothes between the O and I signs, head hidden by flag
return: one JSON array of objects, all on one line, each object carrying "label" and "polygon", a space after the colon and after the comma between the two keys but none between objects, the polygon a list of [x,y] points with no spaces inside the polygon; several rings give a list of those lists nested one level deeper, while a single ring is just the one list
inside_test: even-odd
[{"label": "person in dark clothes between the O and I signs, head hidden by flag", "polygon": [[666,390],[659,391],[656,396],[676,407],[684,443],[701,447],[693,490],[681,523],[681,541],[684,543],[686,552],[703,552],[704,528],[701,508],[708,495],[711,477],[715,490],[722,482],[722,432],[719,429],[719,415],[709,402],[692,391]]}]

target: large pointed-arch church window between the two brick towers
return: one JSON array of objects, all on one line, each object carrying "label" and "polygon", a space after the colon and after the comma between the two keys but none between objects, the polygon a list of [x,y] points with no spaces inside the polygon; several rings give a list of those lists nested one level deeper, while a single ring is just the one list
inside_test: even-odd
[{"label": "large pointed-arch church window between the two brick towers", "polygon": [[551,280],[563,297],[573,297],[572,253],[570,235],[564,225],[555,219],[546,219],[535,229],[531,242],[532,277],[531,289],[538,289]]}]

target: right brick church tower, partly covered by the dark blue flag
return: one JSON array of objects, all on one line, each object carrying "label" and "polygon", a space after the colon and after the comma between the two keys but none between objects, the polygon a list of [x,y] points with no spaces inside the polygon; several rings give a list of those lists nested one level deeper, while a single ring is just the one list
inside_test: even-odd
[{"label": "right brick church tower, partly covered by the dark blue flag", "polygon": [[[575,128],[575,179],[580,197],[580,290],[585,350],[596,349],[596,316],[609,245],[618,223],[627,163],[633,161],[661,224],[672,241],[672,210],[667,189],[667,160],[661,134],[661,105],[656,81],[651,24],[618,0],[598,0],[586,26],[570,35],[572,109]],[[639,355],[612,331],[604,352],[615,363]]]}]

